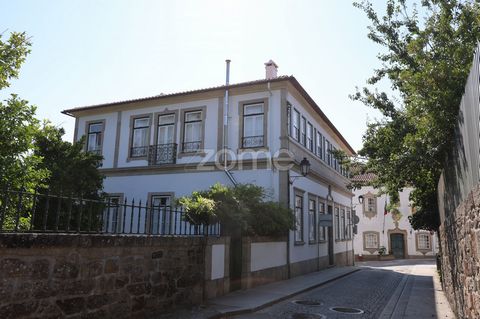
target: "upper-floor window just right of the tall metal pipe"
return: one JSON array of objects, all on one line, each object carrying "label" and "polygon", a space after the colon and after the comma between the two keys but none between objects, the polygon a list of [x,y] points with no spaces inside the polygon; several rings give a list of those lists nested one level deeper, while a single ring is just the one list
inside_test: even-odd
[{"label": "upper-floor window just right of the tall metal pipe", "polygon": [[243,139],[242,147],[263,146],[263,103],[243,106]]}]

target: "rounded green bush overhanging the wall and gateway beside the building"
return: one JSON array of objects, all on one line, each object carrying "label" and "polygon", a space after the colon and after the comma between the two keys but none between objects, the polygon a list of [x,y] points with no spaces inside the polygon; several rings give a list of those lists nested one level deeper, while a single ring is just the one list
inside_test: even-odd
[{"label": "rounded green bush overhanging the wall and gateway beside the building", "polygon": [[294,228],[291,210],[279,203],[264,201],[266,198],[260,186],[226,187],[217,183],[206,191],[178,199],[178,204],[185,208],[189,222],[197,225],[220,222],[227,234],[286,235]]}]

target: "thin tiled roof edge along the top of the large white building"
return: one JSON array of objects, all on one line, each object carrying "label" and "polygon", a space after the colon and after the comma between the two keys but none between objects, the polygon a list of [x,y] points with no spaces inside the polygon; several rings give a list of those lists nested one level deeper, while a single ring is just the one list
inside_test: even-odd
[{"label": "thin tiled roof edge along the top of the large white building", "polygon": [[317,103],[315,103],[315,101],[312,99],[312,97],[307,93],[307,91],[305,91],[305,89],[300,85],[300,83],[297,81],[297,79],[295,79],[295,77],[293,75],[283,75],[283,76],[278,76],[274,79],[261,79],[261,80],[254,80],[254,81],[230,84],[230,85],[214,86],[214,87],[197,89],[197,90],[190,90],[190,91],[183,91],[183,92],[176,92],[176,93],[169,93],[169,94],[160,94],[160,95],[154,95],[154,96],[143,97],[143,98],[138,98],[138,99],[130,99],[130,100],[110,102],[110,103],[102,103],[102,104],[81,106],[81,107],[75,107],[75,108],[63,110],[62,113],[66,114],[66,115],[74,116],[73,114],[76,113],[76,112],[98,109],[98,108],[103,108],[103,107],[109,107],[109,106],[115,106],[115,105],[121,105],[121,104],[129,104],[129,103],[136,103],[136,102],[145,102],[145,101],[152,101],[152,100],[161,100],[161,99],[168,98],[168,97],[175,97],[175,96],[189,95],[189,94],[198,94],[198,93],[205,93],[205,92],[210,92],[210,91],[215,91],[215,90],[225,90],[227,88],[228,89],[233,89],[233,88],[245,87],[245,86],[250,86],[250,85],[281,82],[281,81],[289,81],[302,94],[302,96],[308,101],[308,103],[310,103],[312,105],[313,109],[317,112],[317,114],[320,115],[320,117],[325,121],[325,123],[327,123],[327,125],[340,138],[342,143],[350,150],[350,152],[352,154],[356,154],[355,150],[350,146],[350,144],[348,144],[347,140],[342,136],[342,134],[340,134],[338,129],[335,127],[335,125],[333,125],[333,123],[328,119],[328,117],[325,115],[325,113],[323,113],[323,111],[320,109],[320,107],[317,105]]}]

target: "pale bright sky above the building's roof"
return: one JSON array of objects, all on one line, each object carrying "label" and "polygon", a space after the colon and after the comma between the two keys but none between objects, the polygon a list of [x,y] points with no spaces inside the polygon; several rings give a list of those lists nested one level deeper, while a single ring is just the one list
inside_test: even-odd
[{"label": "pale bright sky above the building's roof", "polygon": [[[385,1],[374,1],[383,9]],[[25,31],[32,52],[0,99],[18,94],[73,139],[64,109],[294,75],[350,145],[359,150],[377,111],[349,99],[380,48],[350,0],[0,0],[0,33]]]}]

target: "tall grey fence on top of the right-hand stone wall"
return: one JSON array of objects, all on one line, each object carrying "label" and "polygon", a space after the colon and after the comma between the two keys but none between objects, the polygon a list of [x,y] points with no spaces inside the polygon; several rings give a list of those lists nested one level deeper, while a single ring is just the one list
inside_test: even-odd
[{"label": "tall grey fence on top of the right-hand stone wall", "polygon": [[480,44],[474,55],[460,104],[455,146],[438,183],[442,222],[463,202],[480,182]]}]

